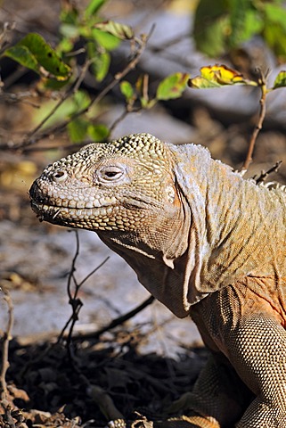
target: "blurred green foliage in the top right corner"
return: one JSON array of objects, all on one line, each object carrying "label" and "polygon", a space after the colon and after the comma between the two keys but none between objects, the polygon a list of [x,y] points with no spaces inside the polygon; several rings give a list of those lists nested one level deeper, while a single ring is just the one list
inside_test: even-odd
[{"label": "blurred green foliage in the top right corner", "polygon": [[286,9],[282,0],[200,0],[194,17],[196,47],[210,57],[232,53],[262,37],[278,62],[286,59]]}]

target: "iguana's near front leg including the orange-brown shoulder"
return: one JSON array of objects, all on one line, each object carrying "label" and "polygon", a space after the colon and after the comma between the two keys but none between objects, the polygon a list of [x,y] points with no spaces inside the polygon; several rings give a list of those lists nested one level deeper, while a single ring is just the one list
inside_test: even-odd
[{"label": "iguana's near front leg including the orange-brown shoulder", "polygon": [[[270,280],[263,281],[271,287]],[[283,311],[274,299],[267,300],[261,295],[263,287],[256,287],[257,282],[258,279],[252,278],[213,293],[195,305],[192,317],[200,326],[205,342],[224,352],[242,382],[256,396],[235,426],[285,428]]]}]

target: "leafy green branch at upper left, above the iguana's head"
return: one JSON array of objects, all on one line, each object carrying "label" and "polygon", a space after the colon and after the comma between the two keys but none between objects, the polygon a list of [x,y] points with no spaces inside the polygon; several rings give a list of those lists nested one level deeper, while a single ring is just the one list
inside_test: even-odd
[{"label": "leafy green branch at upper left, above the iguana's head", "polygon": [[[99,13],[104,3],[104,0],[90,0],[83,11],[69,3],[61,4],[61,39],[55,47],[37,33],[29,33],[16,45],[4,49],[2,56],[37,73],[39,79],[35,89],[38,95],[58,101],[49,101],[42,106],[40,114],[43,116],[44,110],[44,117],[39,119],[37,126],[20,142],[9,138],[9,143],[0,144],[0,149],[26,150],[35,146],[39,140],[60,135],[65,130],[68,131],[71,143],[82,143],[86,136],[93,141],[102,141],[110,136],[110,132],[128,113],[150,109],[159,101],[182,95],[189,75],[180,72],[163,79],[155,97],[151,99],[147,75],[137,79],[135,88],[123,81],[140,61],[152,29],[150,34],[136,37],[133,29],[125,24],[102,21]],[[110,52],[124,41],[130,43],[131,58],[121,71],[110,78]],[[79,42],[83,46],[75,48]],[[78,67],[79,53],[86,58],[82,67]],[[94,98],[82,88],[87,73],[88,77],[93,74],[96,89],[98,83],[106,80],[106,84]],[[121,93],[126,98],[126,111],[107,128],[104,124],[97,123],[94,112],[104,97],[120,82]]]}]

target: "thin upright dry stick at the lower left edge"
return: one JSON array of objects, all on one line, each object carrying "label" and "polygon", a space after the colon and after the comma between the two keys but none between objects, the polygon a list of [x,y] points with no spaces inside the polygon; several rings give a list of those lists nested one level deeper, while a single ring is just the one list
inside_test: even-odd
[{"label": "thin upright dry stick at the lower left edge", "polygon": [[4,301],[8,306],[8,324],[6,331],[4,332],[3,344],[2,344],[2,367],[0,373],[0,383],[1,383],[1,395],[0,398],[2,402],[7,399],[7,383],[6,383],[6,372],[9,368],[9,342],[12,338],[12,325],[14,322],[14,310],[12,306],[12,299],[7,290],[4,290]]}]

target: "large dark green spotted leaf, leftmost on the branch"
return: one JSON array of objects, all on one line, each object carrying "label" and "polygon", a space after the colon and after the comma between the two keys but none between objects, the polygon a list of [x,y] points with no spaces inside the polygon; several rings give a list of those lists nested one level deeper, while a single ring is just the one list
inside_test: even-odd
[{"label": "large dark green spotted leaf, leftmost on the branch", "polygon": [[47,78],[67,80],[71,74],[69,66],[36,33],[29,33],[17,45],[6,49],[4,55]]}]

